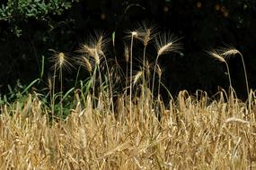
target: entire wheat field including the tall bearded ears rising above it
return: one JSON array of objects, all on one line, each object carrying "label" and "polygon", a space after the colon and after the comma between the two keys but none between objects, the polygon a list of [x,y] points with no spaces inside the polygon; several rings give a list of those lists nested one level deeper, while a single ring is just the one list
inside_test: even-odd
[{"label": "entire wheat field including the tall bearded ears rising above it", "polygon": [[[225,64],[228,91],[209,97],[182,90],[172,98],[158,59],[179,52],[180,38],[156,34],[145,24],[128,34],[126,70],[109,59],[108,41],[96,33],[77,49],[75,62],[51,50],[47,93],[28,90],[41,81],[42,62],[40,79],[23,90],[22,98],[3,102],[0,96],[0,169],[256,169],[256,93],[249,89],[243,55],[233,47],[208,53]],[[144,45],[139,67],[134,41]],[[152,41],[153,63],[146,55]],[[229,55],[241,56],[245,102],[232,88]],[[64,93],[65,73],[74,63],[79,68],[75,87]],[[85,81],[78,81],[80,68],[89,74]],[[163,101],[163,89],[169,101]]]}]

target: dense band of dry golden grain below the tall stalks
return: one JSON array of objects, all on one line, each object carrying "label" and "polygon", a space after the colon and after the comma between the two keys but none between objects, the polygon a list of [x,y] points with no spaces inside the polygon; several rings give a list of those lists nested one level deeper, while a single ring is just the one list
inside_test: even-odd
[{"label": "dense band of dry golden grain below the tall stalks", "polygon": [[104,106],[93,108],[90,96],[85,103],[75,96],[65,121],[50,122],[36,94],[1,106],[0,169],[256,168],[256,107],[245,116],[245,104],[225,102],[222,92],[210,101],[181,91],[169,108],[159,102],[161,121],[140,98],[130,117],[120,97],[114,117]]}]

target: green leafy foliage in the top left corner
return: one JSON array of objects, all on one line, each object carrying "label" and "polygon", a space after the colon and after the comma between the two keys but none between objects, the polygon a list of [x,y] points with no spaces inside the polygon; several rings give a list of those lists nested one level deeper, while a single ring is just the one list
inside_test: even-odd
[{"label": "green leafy foliage in the top left corner", "polygon": [[29,19],[47,21],[49,14],[61,15],[79,0],[8,0],[0,7],[0,21],[8,21],[11,31],[17,36],[22,35],[19,23]]}]

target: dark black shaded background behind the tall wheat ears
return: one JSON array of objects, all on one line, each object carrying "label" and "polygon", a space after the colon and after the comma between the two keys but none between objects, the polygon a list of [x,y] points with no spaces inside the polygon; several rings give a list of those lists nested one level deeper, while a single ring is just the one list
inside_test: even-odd
[{"label": "dark black shaded background behind the tall wheat ears", "polygon": [[[35,80],[42,55],[47,59],[47,79],[52,55],[49,48],[72,53],[93,30],[104,30],[109,37],[115,31],[116,53],[122,57],[125,31],[141,21],[154,22],[159,30],[170,30],[181,38],[182,54],[164,55],[159,60],[165,71],[164,82],[173,95],[181,89],[190,93],[203,89],[212,95],[218,86],[227,89],[225,64],[209,58],[206,52],[225,45],[241,51],[249,86],[255,89],[255,12],[256,1],[252,0],[82,0],[62,14],[49,13],[44,20],[14,20],[22,30],[19,37],[11,31],[13,22],[0,20],[0,93],[7,93],[7,85],[13,87],[18,80],[25,85]],[[228,64],[234,89],[245,98],[241,58],[231,57]],[[66,85],[73,79],[68,73]]]}]

